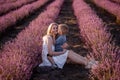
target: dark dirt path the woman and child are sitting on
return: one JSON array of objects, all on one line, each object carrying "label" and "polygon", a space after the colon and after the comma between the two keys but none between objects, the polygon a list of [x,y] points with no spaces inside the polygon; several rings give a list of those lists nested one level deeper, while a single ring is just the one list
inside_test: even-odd
[{"label": "dark dirt path the woman and child are sitting on", "polygon": [[[60,14],[55,21],[69,26],[67,38],[69,45],[73,46],[71,49],[85,56],[87,49],[84,48],[84,43],[80,39],[80,30],[72,9],[72,0],[65,0]],[[67,63],[62,70],[49,71],[48,69],[48,72],[43,70],[43,73],[40,70],[38,67],[34,69],[31,80],[89,80],[89,71],[84,68],[84,65]]]}]

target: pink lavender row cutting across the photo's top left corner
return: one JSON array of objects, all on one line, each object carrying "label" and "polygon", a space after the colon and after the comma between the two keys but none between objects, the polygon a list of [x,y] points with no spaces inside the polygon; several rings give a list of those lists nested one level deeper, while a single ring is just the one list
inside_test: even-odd
[{"label": "pink lavender row cutting across the photo's top left corner", "polygon": [[3,5],[0,6],[0,15],[8,12],[8,11],[11,11],[13,9],[16,9],[18,7],[21,7],[25,4],[28,4],[30,2],[33,2],[35,0],[18,0],[16,2],[12,2],[12,3],[5,3]]}]

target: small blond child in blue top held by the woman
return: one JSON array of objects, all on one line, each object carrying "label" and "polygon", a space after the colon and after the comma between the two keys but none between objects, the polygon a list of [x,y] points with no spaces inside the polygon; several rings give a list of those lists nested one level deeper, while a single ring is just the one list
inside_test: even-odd
[{"label": "small blond child in blue top held by the woman", "polygon": [[[69,47],[68,44],[66,43],[66,34],[68,33],[68,30],[69,28],[66,24],[58,25],[59,37],[55,41],[56,52],[63,51],[63,49],[67,49]],[[49,54],[47,56],[48,56],[48,60],[52,63],[52,66],[57,67],[54,60],[52,59],[52,56],[50,56]]]}]

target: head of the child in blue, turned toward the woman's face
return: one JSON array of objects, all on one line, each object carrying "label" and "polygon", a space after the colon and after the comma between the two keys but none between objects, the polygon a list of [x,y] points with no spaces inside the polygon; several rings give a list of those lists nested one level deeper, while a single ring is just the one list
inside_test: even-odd
[{"label": "head of the child in blue, turned toward the woman's face", "polygon": [[60,35],[67,34],[68,31],[69,31],[68,25],[66,25],[66,24],[59,24],[58,25],[58,33]]}]

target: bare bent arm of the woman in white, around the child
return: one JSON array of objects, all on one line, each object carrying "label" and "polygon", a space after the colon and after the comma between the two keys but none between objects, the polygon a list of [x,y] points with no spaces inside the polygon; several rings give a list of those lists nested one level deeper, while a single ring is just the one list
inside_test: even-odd
[{"label": "bare bent arm of the woman in white, around the child", "polygon": [[52,45],[53,45],[53,40],[48,37],[48,53],[49,53],[49,55],[58,56],[58,55],[64,54],[66,52],[65,49],[61,52],[55,52],[52,50]]}]

